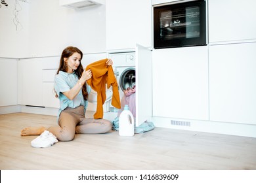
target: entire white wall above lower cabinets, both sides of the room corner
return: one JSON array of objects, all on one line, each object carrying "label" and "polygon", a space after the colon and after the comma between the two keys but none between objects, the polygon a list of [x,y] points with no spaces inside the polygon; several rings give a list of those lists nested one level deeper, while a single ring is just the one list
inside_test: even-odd
[{"label": "entire white wall above lower cabinets, both sides of the room corner", "polygon": [[60,56],[66,46],[86,53],[106,50],[105,6],[74,10],[60,7],[58,0],[18,1],[22,27],[14,26],[14,2],[0,8],[0,57],[33,58]]}]

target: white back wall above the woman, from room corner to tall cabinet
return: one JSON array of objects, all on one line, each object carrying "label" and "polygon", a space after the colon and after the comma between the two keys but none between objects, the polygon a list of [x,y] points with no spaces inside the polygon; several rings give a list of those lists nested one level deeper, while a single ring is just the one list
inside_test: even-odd
[{"label": "white back wall above the woman, from room corner to tall cabinet", "polygon": [[66,46],[85,53],[106,50],[105,7],[60,7],[58,0],[30,1],[30,55],[58,56]]}]

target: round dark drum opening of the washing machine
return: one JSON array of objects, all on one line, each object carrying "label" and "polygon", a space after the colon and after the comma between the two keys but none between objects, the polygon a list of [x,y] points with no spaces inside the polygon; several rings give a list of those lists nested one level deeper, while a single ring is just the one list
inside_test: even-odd
[{"label": "round dark drum opening of the washing machine", "polygon": [[119,86],[121,90],[127,90],[128,88],[133,88],[135,86],[135,68],[127,68],[123,73],[121,73]]}]

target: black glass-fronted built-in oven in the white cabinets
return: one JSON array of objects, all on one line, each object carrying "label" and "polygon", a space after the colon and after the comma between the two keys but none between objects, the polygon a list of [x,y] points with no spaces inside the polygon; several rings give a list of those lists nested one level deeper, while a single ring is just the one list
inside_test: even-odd
[{"label": "black glass-fronted built-in oven in the white cabinets", "polygon": [[204,0],[154,5],[154,48],[201,46],[206,43]]}]

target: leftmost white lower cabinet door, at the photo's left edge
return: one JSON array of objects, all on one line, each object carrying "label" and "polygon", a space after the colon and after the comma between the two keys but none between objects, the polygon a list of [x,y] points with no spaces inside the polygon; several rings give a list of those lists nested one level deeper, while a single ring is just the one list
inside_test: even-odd
[{"label": "leftmost white lower cabinet door, at the photo's left edge", "polygon": [[0,107],[18,104],[17,59],[0,59]]}]

